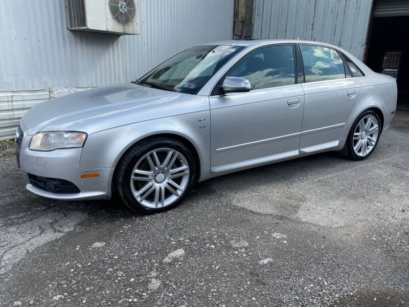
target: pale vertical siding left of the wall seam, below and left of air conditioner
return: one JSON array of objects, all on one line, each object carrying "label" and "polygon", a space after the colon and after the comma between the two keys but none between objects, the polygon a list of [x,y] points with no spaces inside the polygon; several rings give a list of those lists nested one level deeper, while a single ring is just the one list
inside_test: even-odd
[{"label": "pale vertical siding left of the wall seam, below and left of air conditioner", "polygon": [[64,1],[16,0],[13,5],[25,9],[10,10],[8,2],[0,2],[0,46],[7,46],[0,56],[8,59],[0,61],[0,91],[125,80],[120,36],[67,30]]}]

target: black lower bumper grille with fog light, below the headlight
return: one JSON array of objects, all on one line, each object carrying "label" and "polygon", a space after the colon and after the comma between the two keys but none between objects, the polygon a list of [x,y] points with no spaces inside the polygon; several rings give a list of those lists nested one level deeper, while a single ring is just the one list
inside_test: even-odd
[{"label": "black lower bumper grille with fog light, below the headlight", "polygon": [[28,174],[28,177],[30,183],[40,190],[59,194],[75,194],[80,192],[80,189],[68,180],[41,177],[33,174]]}]

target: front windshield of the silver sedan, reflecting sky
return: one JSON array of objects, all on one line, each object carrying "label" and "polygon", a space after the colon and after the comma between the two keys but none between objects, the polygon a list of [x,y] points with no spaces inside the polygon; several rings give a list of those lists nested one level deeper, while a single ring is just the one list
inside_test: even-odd
[{"label": "front windshield of the silver sedan, reflecting sky", "polygon": [[185,50],[138,80],[157,89],[196,94],[200,88],[243,47],[197,46]]}]

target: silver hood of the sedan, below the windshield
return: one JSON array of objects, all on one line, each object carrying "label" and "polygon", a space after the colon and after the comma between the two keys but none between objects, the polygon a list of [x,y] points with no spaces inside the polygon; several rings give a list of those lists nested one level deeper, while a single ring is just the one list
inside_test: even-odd
[{"label": "silver hood of the sedan, below the windshield", "polygon": [[[203,98],[203,97],[202,97]],[[98,87],[47,100],[31,108],[21,119],[28,135],[38,131],[96,131],[139,121],[184,113],[178,104],[197,96],[163,91],[133,83]]]}]

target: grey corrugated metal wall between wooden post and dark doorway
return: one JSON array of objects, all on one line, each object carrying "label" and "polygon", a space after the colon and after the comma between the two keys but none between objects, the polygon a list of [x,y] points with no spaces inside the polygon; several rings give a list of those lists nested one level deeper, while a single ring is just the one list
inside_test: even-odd
[{"label": "grey corrugated metal wall between wooden post and dark doorway", "polygon": [[332,43],[363,58],[372,0],[254,0],[253,38]]}]

